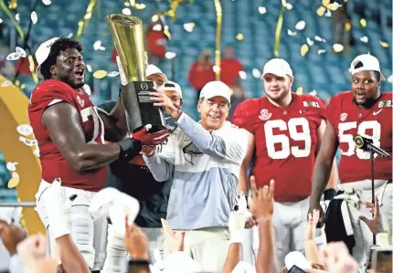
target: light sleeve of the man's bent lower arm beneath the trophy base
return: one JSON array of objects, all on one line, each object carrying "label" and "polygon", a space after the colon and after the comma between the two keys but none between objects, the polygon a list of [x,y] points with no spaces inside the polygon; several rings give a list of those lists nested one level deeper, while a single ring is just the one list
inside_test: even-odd
[{"label": "light sleeve of the man's bent lower arm beneath the trophy base", "polygon": [[162,152],[154,152],[152,156],[143,155],[143,160],[156,181],[168,180],[175,169],[175,134],[168,138]]}]

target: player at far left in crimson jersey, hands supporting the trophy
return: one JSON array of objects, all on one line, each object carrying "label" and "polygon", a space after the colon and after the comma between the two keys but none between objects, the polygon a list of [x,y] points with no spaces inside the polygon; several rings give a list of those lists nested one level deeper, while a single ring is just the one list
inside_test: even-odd
[{"label": "player at far left in crimson jersey, hands supporting the trophy", "polygon": [[[37,192],[37,212],[47,228],[50,250],[63,231],[48,226],[46,189],[60,179],[64,200],[77,194],[69,211],[71,236],[91,270],[100,270],[105,258],[106,220],[88,212],[90,200],[106,182],[107,164],[131,160],[142,145],[164,142],[167,131],[137,131],[125,138],[118,123],[124,116],[99,116],[84,84],[86,67],[82,47],[69,38],[51,38],[36,52],[37,76],[45,79],[33,90],[28,116],[39,148],[42,181]],[[122,101],[116,105],[122,107]],[[118,110],[116,112],[124,112]],[[105,131],[104,131],[105,130]],[[112,144],[104,144],[105,138]]]}]

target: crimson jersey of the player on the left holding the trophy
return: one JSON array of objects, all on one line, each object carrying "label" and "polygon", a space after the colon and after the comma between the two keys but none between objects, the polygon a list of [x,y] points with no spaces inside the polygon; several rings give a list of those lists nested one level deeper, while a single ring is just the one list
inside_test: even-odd
[{"label": "crimson jersey of the player on the left holding the trophy", "polygon": [[28,117],[39,149],[42,179],[52,183],[60,177],[64,186],[98,192],[105,184],[108,167],[87,171],[74,169],[50,140],[48,130],[42,124],[44,110],[60,101],[65,101],[78,110],[86,142],[104,143],[103,123],[87,90],[72,89],[67,83],[56,79],[43,81],[33,90],[28,105]]}]

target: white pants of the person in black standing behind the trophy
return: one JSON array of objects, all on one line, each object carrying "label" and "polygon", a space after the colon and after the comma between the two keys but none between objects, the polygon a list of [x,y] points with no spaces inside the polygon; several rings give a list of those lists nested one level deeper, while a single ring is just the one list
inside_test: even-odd
[{"label": "white pants of the person in black standing behind the trophy", "polygon": [[[149,239],[149,256],[151,263],[155,263],[154,249],[158,249],[161,258],[166,255],[164,247],[164,231],[162,227],[141,227]],[[124,246],[124,238],[116,233],[112,225],[108,228],[107,257],[101,273],[126,273],[128,272],[127,251]],[[130,257],[129,257],[130,258]]]}]

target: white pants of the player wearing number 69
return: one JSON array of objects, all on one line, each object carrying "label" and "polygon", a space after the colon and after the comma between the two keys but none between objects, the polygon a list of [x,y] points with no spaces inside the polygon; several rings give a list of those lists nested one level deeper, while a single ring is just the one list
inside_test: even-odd
[{"label": "white pants of the player wearing number 69", "polygon": [[[273,226],[276,236],[277,260],[279,267],[285,267],[285,256],[291,251],[304,254],[304,231],[307,226],[307,213],[310,197],[296,203],[274,202]],[[259,227],[253,227],[254,258],[258,257],[260,248]],[[315,243],[321,248],[326,244],[324,229],[317,229]]]}]

